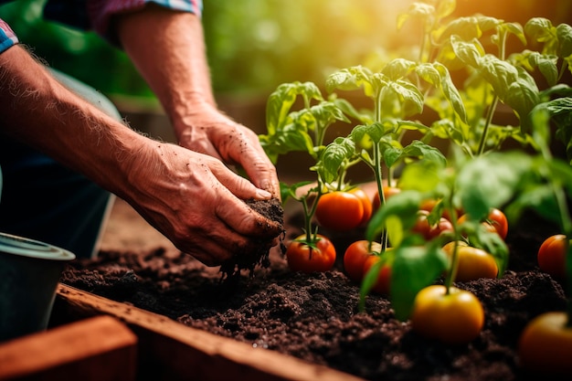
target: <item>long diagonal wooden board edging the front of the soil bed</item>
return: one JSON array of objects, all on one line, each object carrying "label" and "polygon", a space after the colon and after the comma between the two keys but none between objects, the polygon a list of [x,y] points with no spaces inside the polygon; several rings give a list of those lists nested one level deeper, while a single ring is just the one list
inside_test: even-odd
[{"label": "long diagonal wooden board edging the front of the soil bed", "polygon": [[313,365],[246,343],[217,336],[163,315],[58,286],[59,315],[109,314],[127,323],[139,338],[139,372],[145,379],[249,381],[363,381],[323,365]]}]

